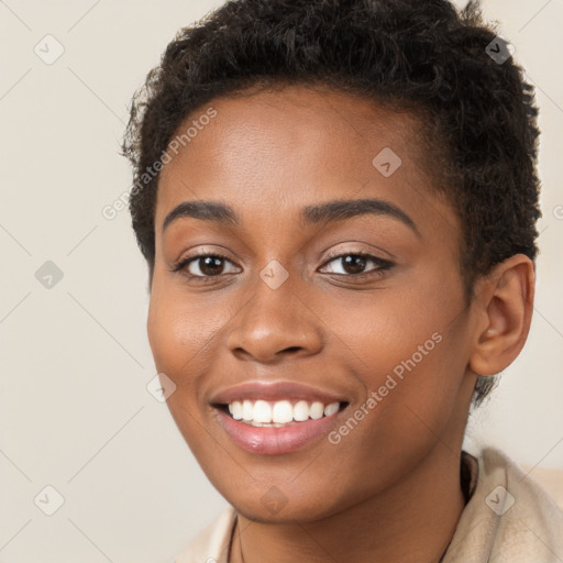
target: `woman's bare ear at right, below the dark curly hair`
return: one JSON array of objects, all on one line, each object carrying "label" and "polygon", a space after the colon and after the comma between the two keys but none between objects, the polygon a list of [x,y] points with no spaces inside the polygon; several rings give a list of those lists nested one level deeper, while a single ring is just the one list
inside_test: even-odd
[{"label": "woman's bare ear at right, below the dark curly hair", "polygon": [[496,265],[476,288],[476,332],[470,367],[495,375],[508,367],[523,347],[533,310],[533,262],[523,254]]}]

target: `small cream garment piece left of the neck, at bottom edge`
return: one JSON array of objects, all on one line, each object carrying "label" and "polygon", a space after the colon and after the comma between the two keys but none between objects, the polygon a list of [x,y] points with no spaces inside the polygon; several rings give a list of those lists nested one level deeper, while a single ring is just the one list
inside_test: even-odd
[{"label": "small cream garment piece left of the neck, at bottom edge", "polygon": [[227,563],[235,516],[234,508],[228,506],[189,541],[174,563]]}]

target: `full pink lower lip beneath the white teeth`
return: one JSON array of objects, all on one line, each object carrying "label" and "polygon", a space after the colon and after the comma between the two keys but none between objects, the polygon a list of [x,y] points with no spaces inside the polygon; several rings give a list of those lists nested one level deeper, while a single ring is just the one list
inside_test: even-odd
[{"label": "full pink lower lip beneath the white teeth", "polygon": [[247,452],[268,455],[301,450],[327,437],[342,410],[317,420],[309,419],[287,427],[268,428],[245,424],[240,420],[234,420],[221,409],[217,409],[221,427],[234,443]]}]

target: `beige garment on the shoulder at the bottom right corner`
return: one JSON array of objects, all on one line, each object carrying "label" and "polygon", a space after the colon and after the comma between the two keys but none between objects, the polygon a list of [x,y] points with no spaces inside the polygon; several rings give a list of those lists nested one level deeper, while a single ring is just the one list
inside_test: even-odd
[{"label": "beige garment on the shoulder at the bottom right corner", "polygon": [[508,455],[484,448],[475,488],[444,563],[563,560],[563,512],[544,488]]}]

